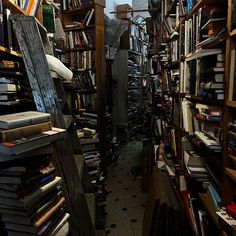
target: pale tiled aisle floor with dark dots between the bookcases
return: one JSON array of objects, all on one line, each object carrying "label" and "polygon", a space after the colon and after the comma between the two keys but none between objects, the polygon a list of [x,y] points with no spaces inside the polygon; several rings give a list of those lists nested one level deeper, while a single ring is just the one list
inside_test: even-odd
[{"label": "pale tiled aisle floor with dark dots between the bookcases", "polygon": [[121,149],[117,164],[108,169],[107,226],[112,236],[141,236],[146,193],[141,191],[141,179],[131,169],[140,165],[142,141],[132,141]]}]

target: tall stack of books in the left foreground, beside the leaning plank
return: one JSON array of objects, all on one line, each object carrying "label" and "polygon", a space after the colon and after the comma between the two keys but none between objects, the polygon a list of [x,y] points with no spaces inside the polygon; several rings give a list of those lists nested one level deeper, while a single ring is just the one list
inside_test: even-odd
[{"label": "tall stack of books in the left foreground, beside the leaning plank", "polygon": [[62,180],[56,175],[52,150],[45,148],[63,138],[65,130],[52,127],[50,119],[50,114],[41,112],[0,116],[0,214],[4,235],[69,231]]}]

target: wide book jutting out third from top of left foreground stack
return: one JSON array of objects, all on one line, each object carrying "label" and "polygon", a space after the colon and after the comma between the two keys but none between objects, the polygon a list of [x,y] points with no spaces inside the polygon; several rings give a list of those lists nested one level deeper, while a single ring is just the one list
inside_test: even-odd
[{"label": "wide book jutting out third from top of left foreground stack", "polygon": [[18,155],[24,152],[34,150],[42,146],[46,146],[56,140],[64,138],[66,131],[52,127],[52,130],[42,132],[31,137],[12,140],[0,143],[0,153],[6,155]]}]

